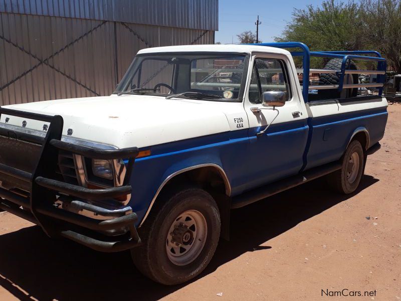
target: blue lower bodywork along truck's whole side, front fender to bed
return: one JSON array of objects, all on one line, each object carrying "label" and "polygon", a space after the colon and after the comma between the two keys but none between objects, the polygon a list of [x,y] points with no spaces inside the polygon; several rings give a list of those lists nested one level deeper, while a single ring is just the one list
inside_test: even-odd
[{"label": "blue lower bodywork along truck's whole side, front fender to bed", "polygon": [[[306,169],[338,160],[355,128],[365,126],[372,143],[378,141],[384,128],[385,107],[311,118],[313,126]],[[221,166],[232,188],[232,195],[256,188],[298,173],[305,161],[309,126],[306,119],[274,124],[267,134],[256,137],[264,127],[236,130],[208,136],[144,147],[151,156],[135,161],[130,184],[130,206],[138,214],[138,224],[161,183],[171,174],[187,167],[214,163]],[[330,136],[323,140],[324,130]],[[259,140],[258,140],[259,139]],[[267,139],[264,147],[260,142]],[[297,151],[301,150],[301,156]],[[268,155],[266,158],[264,155]],[[275,159],[276,158],[276,159]],[[286,162],[280,161],[286,158]]]}]

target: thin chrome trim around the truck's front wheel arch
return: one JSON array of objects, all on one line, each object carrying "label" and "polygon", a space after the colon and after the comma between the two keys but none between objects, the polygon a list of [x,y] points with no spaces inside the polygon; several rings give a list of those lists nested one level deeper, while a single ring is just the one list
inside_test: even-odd
[{"label": "thin chrome trim around the truck's front wheel arch", "polygon": [[150,202],[150,205],[141,221],[139,224],[139,227],[142,226],[142,224],[145,222],[146,218],[149,216],[149,213],[151,209],[153,208],[153,205],[155,204],[157,198],[161,194],[164,188],[168,186],[168,184],[173,183],[173,180],[176,180],[180,176],[184,176],[185,174],[189,173],[194,173],[194,172],[202,172],[205,171],[205,169],[210,169],[218,173],[220,176],[221,180],[223,180],[224,183],[224,188],[225,188],[225,196],[229,198],[231,196],[231,184],[229,181],[229,178],[227,177],[226,172],[224,169],[215,163],[206,163],[206,164],[198,164],[190,167],[183,168],[181,170],[175,171],[174,173],[170,174],[165,178],[165,180],[160,184],[159,188],[157,189],[156,193],[154,194],[152,201]]}]

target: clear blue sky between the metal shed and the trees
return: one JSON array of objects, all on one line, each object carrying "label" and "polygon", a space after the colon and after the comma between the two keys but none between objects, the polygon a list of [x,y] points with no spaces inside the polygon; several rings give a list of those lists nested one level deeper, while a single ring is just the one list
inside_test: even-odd
[{"label": "clear blue sky between the metal shed and the trees", "polygon": [[285,25],[291,21],[293,8],[303,9],[307,5],[320,5],[322,0],[219,0],[219,31],[216,42],[238,43],[237,34],[251,30],[256,32],[259,15],[259,39],[274,42]]}]

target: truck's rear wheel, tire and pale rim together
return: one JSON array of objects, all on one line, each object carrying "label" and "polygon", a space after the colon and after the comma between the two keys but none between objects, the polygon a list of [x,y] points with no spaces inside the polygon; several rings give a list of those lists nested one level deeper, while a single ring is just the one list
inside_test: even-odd
[{"label": "truck's rear wheel, tire and pale rim together", "polygon": [[365,154],[358,140],[353,140],[342,156],[340,170],[328,175],[328,184],[342,194],[353,193],[359,186],[365,166]]}]

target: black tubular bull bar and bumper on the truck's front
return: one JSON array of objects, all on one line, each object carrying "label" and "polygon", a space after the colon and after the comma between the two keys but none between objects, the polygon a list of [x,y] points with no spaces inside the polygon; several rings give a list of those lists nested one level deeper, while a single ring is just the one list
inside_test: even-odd
[{"label": "black tubular bull bar and bumper on the truck's front", "polygon": [[[15,140],[38,143],[41,151],[32,172],[13,167],[10,162],[13,163],[14,160],[4,160],[0,156],[0,175],[8,183],[13,183],[11,189],[0,187],[0,209],[40,225],[49,236],[66,237],[98,251],[123,251],[141,243],[135,228],[137,215],[129,207],[113,210],[105,208],[106,206],[93,205],[102,204],[101,202],[107,204],[108,200],[131,194],[128,180],[138,155],[136,147],[100,149],[61,141],[63,118],[58,115],[48,116],[6,108],[0,108],[0,116],[1,114],[50,122],[50,126],[45,137],[15,132],[12,136],[8,134],[11,144]],[[3,136],[5,141],[4,138]],[[16,144],[18,145],[13,145]],[[56,180],[55,171],[60,150],[92,159],[129,158],[123,185],[89,189]],[[21,153],[21,149],[19,151]],[[16,158],[16,162],[17,166],[21,164],[21,158]],[[68,209],[66,204],[69,205]],[[94,216],[80,214],[83,210],[93,213]]]}]

